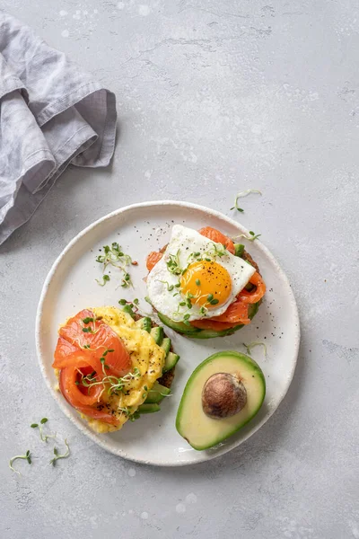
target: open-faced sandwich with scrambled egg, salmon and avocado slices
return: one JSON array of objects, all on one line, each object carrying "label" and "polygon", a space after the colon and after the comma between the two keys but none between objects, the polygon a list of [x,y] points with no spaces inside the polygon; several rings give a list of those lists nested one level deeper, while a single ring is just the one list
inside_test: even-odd
[{"label": "open-faced sandwich with scrambled egg, salmon and avocado slices", "polygon": [[179,359],[162,327],[130,305],[84,309],[60,327],[59,391],[96,432],[159,411]]}]

